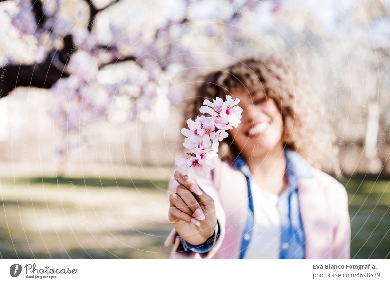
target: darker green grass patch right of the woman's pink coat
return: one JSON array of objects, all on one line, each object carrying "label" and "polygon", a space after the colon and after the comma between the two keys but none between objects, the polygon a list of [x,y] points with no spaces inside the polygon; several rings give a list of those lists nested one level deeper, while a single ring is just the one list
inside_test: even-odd
[{"label": "darker green grass patch right of the woman's pink coat", "polygon": [[339,180],[347,189],[351,258],[390,258],[390,181],[355,176]]}]

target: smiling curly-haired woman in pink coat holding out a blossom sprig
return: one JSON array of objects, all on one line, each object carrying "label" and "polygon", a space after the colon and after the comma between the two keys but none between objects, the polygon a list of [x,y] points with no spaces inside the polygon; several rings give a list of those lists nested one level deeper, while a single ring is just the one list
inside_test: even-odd
[{"label": "smiling curly-haired woman in pink coat holding out a blossom sprig", "polygon": [[334,152],[329,128],[293,66],[263,56],[203,80],[188,117],[199,115],[204,99],[231,95],[240,99],[242,119],[207,177],[195,183],[175,172],[170,258],[350,257],[345,188],[318,169],[324,152]]}]

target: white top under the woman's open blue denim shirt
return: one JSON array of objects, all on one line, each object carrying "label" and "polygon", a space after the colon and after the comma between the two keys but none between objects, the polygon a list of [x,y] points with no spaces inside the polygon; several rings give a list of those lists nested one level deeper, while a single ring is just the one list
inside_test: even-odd
[{"label": "white top under the woman's open blue denim shirt", "polygon": [[[278,259],[280,253],[279,196],[261,189],[251,178],[254,228],[245,259]],[[249,236],[249,235],[244,235]]]}]

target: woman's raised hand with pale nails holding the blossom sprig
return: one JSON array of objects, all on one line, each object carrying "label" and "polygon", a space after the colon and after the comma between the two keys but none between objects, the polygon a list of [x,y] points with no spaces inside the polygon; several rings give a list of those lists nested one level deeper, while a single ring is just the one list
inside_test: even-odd
[{"label": "woman's raised hand with pale nails holding the blossom sprig", "polygon": [[169,221],[186,242],[200,245],[215,231],[214,200],[184,172],[175,171],[174,177],[180,185],[169,196]]}]

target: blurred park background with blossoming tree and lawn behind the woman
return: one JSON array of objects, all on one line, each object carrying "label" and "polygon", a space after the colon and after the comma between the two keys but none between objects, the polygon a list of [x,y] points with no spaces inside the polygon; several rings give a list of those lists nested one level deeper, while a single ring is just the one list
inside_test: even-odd
[{"label": "blurred park background with blossoming tree and lawn behind the woman", "polygon": [[1,0],[0,257],[167,258],[181,103],[299,59],[332,117],[351,258],[390,258],[389,0]]}]

